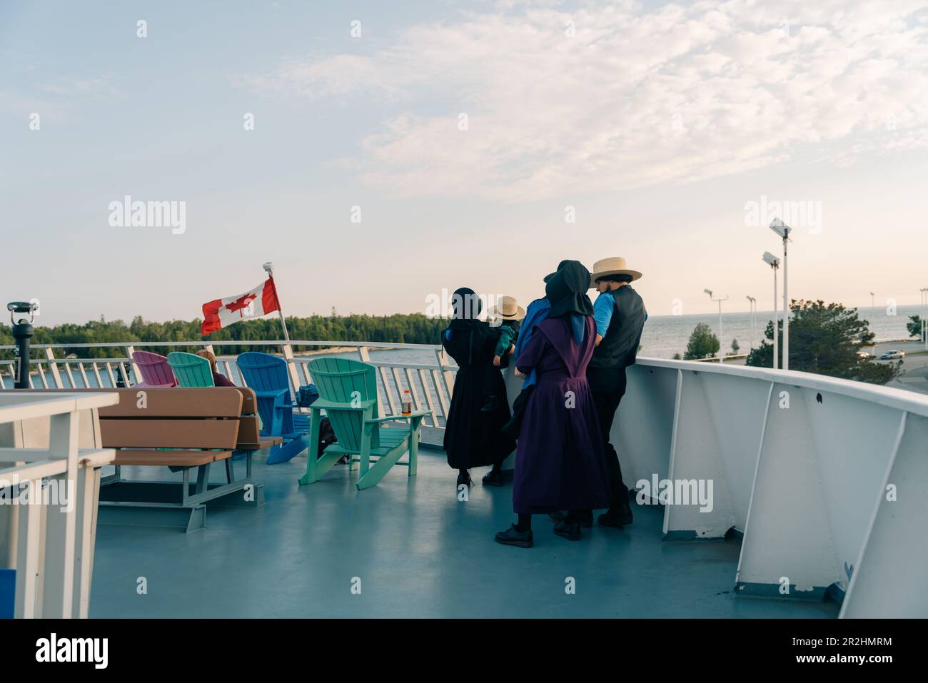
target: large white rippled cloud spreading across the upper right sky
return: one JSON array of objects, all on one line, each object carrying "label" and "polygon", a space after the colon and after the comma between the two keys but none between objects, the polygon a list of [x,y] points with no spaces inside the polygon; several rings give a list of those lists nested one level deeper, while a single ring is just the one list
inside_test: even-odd
[{"label": "large white rippled cloud spreading across the upper right sky", "polygon": [[924,2],[559,7],[497,3],[239,82],[380,107],[342,163],[406,197],[540,200],[928,139]]}]

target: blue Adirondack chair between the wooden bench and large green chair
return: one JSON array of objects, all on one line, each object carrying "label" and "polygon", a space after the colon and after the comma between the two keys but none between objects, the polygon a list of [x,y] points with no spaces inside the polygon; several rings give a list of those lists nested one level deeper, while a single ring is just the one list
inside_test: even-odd
[{"label": "blue Adirondack chair between the wooden bench and large green chair", "polygon": [[283,444],[272,446],[267,464],[287,462],[300,455],[311,443],[307,440],[309,417],[294,410],[290,393],[290,376],[287,361],[276,355],[248,351],[238,354],[238,369],[245,384],[254,390],[258,399],[264,436],[280,436]]}]

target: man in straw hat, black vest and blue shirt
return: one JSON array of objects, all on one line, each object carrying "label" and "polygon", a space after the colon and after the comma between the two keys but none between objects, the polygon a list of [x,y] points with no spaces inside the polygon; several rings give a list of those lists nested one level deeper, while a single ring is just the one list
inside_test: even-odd
[{"label": "man in straw hat, black vest and blue shirt", "polygon": [[[615,410],[625,395],[625,367],[635,363],[641,330],[648,317],[644,302],[631,287],[638,277],[641,273],[626,267],[625,259],[616,256],[597,261],[590,281],[590,289],[599,291],[599,297],[593,306],[596,350],[586,367],[586,380],[593,393],[602,443],[610,466],[612,491],[615,493],[612,506],[599,515],[599,523],[620,528],[632,523],[632,508],[628,502],[628,488],[622,481],[619,456],[609,435]],[[586,523],[589,522],[592,522],[592,514]]]}]

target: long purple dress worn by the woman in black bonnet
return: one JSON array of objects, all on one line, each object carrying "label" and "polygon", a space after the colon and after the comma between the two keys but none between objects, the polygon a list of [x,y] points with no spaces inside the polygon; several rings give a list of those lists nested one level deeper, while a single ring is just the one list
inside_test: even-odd
[{"label": "long purple dress worn by the woman in black bonnet", "polygon": [[537,370],[525,407],[516,455],[512,507],[539,514],[560,509],[608,508],[612,487],[599,435],[586,365],[593,356],[596,323],[584,316],[583,342],[574,342],[567,318],[535,328],[516,367]]}]

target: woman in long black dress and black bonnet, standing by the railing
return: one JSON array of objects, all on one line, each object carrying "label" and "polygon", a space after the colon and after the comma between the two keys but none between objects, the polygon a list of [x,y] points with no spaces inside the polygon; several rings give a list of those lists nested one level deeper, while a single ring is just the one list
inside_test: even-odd
[{"label": "woman in long black dress and black bonnet, standing by the railing", "polygon": [[502,485],[503,460],[515,449],[515,441],[501,430],[509,421],[509,402],[496,401],[493,410],[482,410],[489,396],[506,396],[502,372],[493,365],[499,329],[477,316],[483,302],[473,290],[461,288],[452,298],[453,317],[442,333],[442,346],[458,363],[451,407],[445,423],[448,465],[458,470],[458,485],[470,486],[470,468],[492,465],[483,483]]}]

